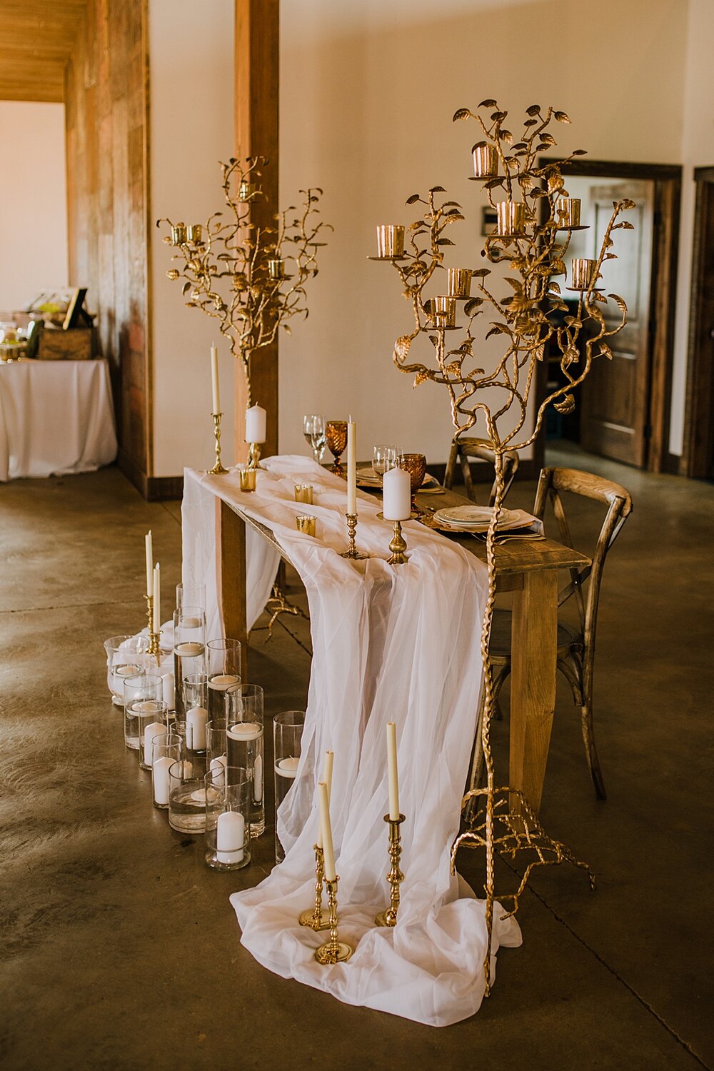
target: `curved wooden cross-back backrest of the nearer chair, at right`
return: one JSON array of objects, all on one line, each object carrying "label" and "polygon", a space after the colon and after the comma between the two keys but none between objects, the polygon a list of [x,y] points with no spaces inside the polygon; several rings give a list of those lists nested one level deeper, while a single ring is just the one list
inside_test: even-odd
[{"label": "curved wooden cross-back backrest of the nearer chair, at right", "polygon": [[[553,514],[558,523],[561,543],[573,546],[571,529],[565,516],[565,510],[560,497],[561,492],[582,495],[607,506],[607,513],[597,537],[597,545],[592,557],[592,564],[584,569],[572,569],[571,583],[563,588],[558,597],[558,605],[562,606],[572,595],[575,595],[580,628],[586,648],[586,657],[592,659],[594,653],[595,625],[597,620],[597,603],[599,600],[603,569],[608,550],[614,543],[620,529],[633,512],[633,500],[629,492],[621,484],[594,476],[592,472],[581,472],[579,469],[544,468],[541,470],[533,513],[543,521],[546,502],[550,499]],[[583,599],[582,587],[590,578],[587,598]],[[588,651],[591,650],[590,655]]]}]

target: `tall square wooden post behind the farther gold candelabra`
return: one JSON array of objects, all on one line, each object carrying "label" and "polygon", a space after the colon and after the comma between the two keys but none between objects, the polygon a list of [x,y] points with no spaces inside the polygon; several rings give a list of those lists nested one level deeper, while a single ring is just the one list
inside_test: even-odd
[{"label": "tall square wooden post behind the farther gold candelabra", "polygon": [[[252,220],[274,226],[278,209],[279,0],[236,0],[236,155],[267,156],[260,199]],[[245,461],[243,372],[234,369],[236,458]],[[250,360],[253,402],[268,412],[262,455],[277,453],[277,341]]]}]

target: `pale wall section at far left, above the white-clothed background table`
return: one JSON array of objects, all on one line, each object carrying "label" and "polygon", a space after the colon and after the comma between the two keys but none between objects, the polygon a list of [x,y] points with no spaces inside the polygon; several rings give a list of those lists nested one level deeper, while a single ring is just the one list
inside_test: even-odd
[{"label": "pale wall section at far left, above the white-clothed background table", "polygon": [[64,105],[0,101],[0,308],[67,285]]}]

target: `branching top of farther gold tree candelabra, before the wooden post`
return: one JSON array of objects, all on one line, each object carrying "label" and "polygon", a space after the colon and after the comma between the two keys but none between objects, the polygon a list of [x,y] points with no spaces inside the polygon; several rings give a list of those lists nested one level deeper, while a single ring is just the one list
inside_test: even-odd
[{"label": "branching top of farther gold tree candelabra, before the wooden post", "polygon": [[188,308],[200,308],[218,321],[233,357],[241,361],[250,393],[250,356],[275,341],[280,327],[290,333],[291,317],[307,317],[305,285],[318,273],[317,251],[332,227],[319,215],[322,191],[301,190],[303,203],[275,215],[275,225],[260,227],[252,209],[264,194],[260,187],[264,156],[231,159],[221,164],[225,212],[214,212],[204,225],[171,223],[164,241],[176,248],[170,280],[183,280]]}]

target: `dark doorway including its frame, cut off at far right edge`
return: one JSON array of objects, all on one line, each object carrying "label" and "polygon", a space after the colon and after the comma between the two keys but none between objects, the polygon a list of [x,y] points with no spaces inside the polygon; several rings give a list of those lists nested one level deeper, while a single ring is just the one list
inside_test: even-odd
[{"label": "dark doorway including its frame, cut off at far right edge", "polygon": [[684,423],[686,476],[714,480],[714,167],[694,172],[697,199]]}]

